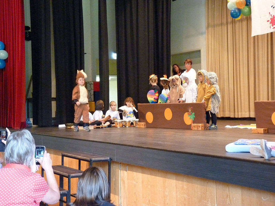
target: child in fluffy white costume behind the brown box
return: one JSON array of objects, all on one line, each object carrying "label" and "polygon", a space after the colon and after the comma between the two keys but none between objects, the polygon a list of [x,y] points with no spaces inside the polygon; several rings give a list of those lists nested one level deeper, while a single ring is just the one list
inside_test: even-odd
[{"label": "child in fluffy white costume behind the brown box", "polygon": [[186,74],[184,77],[185,82],[187,83],[186,90],[183,94],[183,97],[179,99],[179,103],[186,102],[186,103],[193,103],[197,100],[198,95],[198,86],[195,83],[195,79],[192,76]]}]

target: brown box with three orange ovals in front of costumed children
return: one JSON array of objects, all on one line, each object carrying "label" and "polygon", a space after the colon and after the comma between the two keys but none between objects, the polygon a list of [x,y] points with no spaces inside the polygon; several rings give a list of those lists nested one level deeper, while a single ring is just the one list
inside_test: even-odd
[{"label": "brown box with three orange ovals in front of costumed children", "polygon": [[149,128],[191,129],[191,124],[204,124],[204,103],[137,104],[139,122]]}]

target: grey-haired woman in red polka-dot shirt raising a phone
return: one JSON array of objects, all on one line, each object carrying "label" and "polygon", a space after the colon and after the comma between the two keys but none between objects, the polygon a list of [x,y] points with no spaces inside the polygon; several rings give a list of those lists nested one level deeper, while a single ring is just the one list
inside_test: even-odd
[{"label": "grey-haired woman in red polka-dot shirt raising a phone", "polygon": [[50,154],[37,159],[46,172],[47,182],[35,173],[35,141],[28,130],[13,132],[6,142],[6,166],[0,169],[0,205],[55,204],[60,199]]}]

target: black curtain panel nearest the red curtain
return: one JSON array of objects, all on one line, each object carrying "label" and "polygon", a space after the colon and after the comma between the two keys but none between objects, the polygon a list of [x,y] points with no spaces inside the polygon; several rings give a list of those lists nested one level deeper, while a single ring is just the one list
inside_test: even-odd
[{"label": "black curtain panel nearest the red curtain", "polygon": [[33,124],[52,125],[50,0],[30,0]]}]

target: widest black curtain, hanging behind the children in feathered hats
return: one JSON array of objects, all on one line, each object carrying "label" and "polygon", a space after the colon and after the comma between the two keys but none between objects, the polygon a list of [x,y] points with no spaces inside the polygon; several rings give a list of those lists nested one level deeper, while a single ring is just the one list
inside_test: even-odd
[{"label": "widest black curtain, hanging behind the children in feathered hats", "polygon": [[149,76],[170,76],[171,0],[115,0],[118,105],[148,103]]}]

